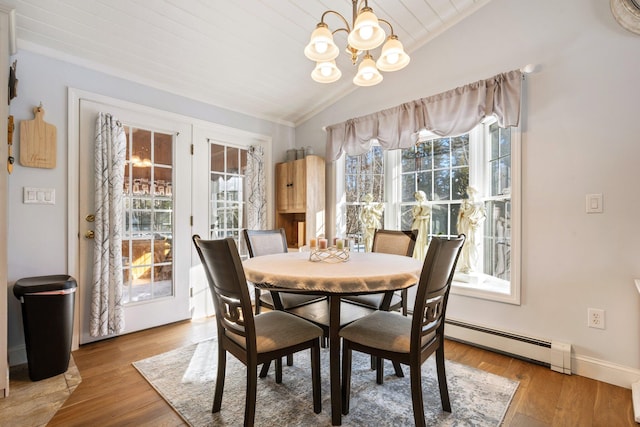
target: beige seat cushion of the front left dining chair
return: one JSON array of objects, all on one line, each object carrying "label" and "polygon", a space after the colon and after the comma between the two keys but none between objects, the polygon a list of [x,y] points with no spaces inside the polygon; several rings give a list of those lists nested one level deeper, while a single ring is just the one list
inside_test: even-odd
[{"label": "beige seat cushion of the front left dining chair", "polygon": [[[322,336],[322,329],[283,311],[268,311],[254,317],[258,353],[290,347]],[[227,336],[246,348],[245,339],[227,331]]]}]

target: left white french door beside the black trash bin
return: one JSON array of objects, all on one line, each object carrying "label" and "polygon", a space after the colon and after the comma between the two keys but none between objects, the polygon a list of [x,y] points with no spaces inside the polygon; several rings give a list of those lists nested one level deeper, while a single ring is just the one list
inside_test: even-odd
[{"label": "left white french door beside the black trash bin", "polygon": [[99,112],[127,136],[122,239],[124,333],[191,317],[191,126],[166,114],[89,99],[79,101],[80,344],[89,334],[93,275],[94,137]]}]

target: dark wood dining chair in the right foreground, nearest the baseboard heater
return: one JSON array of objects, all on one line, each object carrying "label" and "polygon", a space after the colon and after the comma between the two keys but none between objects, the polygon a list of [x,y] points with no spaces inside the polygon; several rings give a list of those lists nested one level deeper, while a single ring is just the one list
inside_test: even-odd
[{"label": "dark wood dining chair in the right foreground, nearest the baseboard heater", "polygon": [[351,357],[353,351],[368,353],[409,365],[413,417],[425,426],[421,366],[434,352],[442,409],[451,412],[444,361],[444,320],[451,281],[465,236],[434,237],[418,282],[413,315],[376,311],[340,330],[342,337],[342,413],[349,413]]}]

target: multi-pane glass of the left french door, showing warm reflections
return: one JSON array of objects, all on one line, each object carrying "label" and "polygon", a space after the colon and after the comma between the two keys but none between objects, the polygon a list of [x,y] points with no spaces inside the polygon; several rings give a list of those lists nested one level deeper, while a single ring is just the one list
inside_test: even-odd
[{"label": "multi-pane glass of the left french door, showing warm reflections", "polygon": [[173,135],[126,127],[122,239],[125,303],[173,290]]}]

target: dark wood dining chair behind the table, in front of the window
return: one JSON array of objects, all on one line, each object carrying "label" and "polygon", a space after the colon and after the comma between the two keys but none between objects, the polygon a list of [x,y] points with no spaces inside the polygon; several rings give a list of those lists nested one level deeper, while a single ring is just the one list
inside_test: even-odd
[{"label": "dark wood dining chair behind the table, in front of the window", "polygon": [[[385,254],[413,256],[413,249],[416,246],[418,230],[384,230],[377,229],[373,235],[371,252],[381,252]],[[345,296],[345,302],[359,304],[374,310],[399,310],[407,315],[407,289],[386,294],[365,294]]]}]

